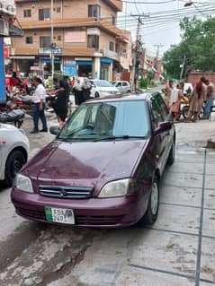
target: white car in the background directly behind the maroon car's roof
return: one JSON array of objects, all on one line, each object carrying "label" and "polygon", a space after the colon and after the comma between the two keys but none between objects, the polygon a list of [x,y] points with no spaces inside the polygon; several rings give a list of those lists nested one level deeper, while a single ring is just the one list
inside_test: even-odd
[{"label": "white car in the background directly behind the maroon car's roof", "polygon": [[91,83],[91,95],[94,98],[103,98],[109,95],[121,94],[121,92],[112,86],[112,83],[104,80],[89,80]]}]

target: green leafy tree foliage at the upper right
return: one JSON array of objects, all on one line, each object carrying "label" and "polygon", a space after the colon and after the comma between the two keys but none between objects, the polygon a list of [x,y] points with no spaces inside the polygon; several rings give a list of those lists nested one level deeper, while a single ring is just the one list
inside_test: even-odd
[{"label": "green leafy tree foliage at the upper right", "polygon": [[166,73],[179,78],[184,56],[185,73],[190,70],[215,70],[215,19],[200,21],[184,18],[180,22],[182,41],[166,51],[163,61]]}]

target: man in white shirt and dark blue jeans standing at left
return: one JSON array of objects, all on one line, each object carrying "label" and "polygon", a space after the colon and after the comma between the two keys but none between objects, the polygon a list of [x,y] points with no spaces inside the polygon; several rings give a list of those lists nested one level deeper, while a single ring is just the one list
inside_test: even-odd
[{"label": "man in white shirt and dark blue jeans standing at left", "polygon": [[40,129],[40,132],[48,132],[47,127],[47,120],[45,115],[45,109],[46,109],[46,90],[42,84],[42,81],[39,77],[34,77],[33,79],[33,85],[36,87],[33,95],[32,95],[32,101],[34,102],[34,108],[33,108],[33,130],[31,133],[37,133],[39,132],[39,118],[42,123],[42,129]]}]

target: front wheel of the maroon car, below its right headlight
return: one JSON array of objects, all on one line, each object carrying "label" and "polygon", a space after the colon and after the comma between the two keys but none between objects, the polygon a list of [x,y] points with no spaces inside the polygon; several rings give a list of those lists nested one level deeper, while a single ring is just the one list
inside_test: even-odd
[{"label": "front wheel of the maroon car, below its right headlight", "polygon": [[157,221],[157,214],[159,208],[159,181],[157,176],[154,177],[151,187],[151,194],[148,200],[147,212],[139,221],[140,224],[153,224]]}]

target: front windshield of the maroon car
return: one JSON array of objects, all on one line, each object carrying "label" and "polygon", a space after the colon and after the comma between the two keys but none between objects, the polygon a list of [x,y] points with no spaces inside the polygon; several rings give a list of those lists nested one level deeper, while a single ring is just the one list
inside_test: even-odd
[{"label": "front windshield of the maroon car", "polygon": [[85,103],[58,134],[61,140],[125,140],[149,134],[144,100]]}]

